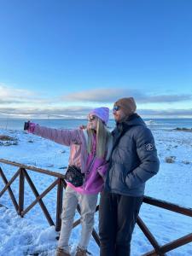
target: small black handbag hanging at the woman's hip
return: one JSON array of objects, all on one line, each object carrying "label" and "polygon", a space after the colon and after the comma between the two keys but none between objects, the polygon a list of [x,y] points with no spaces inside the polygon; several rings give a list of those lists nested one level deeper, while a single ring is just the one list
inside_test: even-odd
[{"label": "small black handbag hanging at the woman's hip", "polygon": [[84,183],[84,173],[76,166],[68,166],[65,178],[68,183],[72,183],[75,187],[80,187]]}]

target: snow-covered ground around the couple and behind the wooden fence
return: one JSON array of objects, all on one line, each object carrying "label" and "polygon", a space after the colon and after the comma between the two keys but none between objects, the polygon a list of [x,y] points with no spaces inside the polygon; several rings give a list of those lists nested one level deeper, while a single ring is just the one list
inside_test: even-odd
[{"label": "snow-covered ground around the couple and behind the wooden fence", "polygon": [[[183,207],[192,207],[192,132],[154,130],[153,133],[160,156],[160,172],[148,181],[145,195]],[[61,173],[63,172],[61,168],[67,166],[69,154],[67,147],[27,134],[25,131],[0,129],[0,135],[15,138],[15,141],[9,142],[11,144],[9,146],[5,141],[0,140],[2,142],[0,143],[0,158],[2,159]],[[166,158],[172,159],[173,162],[167,163]],[[15,171],[18,170],[17,167],[1,163],[0,166],[8,179],[13,177]],[[28,173],[37,186],[39,194],[55,180],[54,177],[37,172]],[[3,187],[4,184],[0,178],[0,191]],[[18,199],[18,178],[11,188]],[[32,191],[26,183],[25,207],[33,200]],[[55,221],[56,189],[51,190],[43,201]],[[0,256],[54,255],[57,244],[55,237],[58,234],[54,227],[49,226],[38,205],[33,207],[24,218],[20,218],[15,212],[8,192],[0,198],[0,204],[5,206],[0,207]],[[161,245],[185,236],[192,230],[192,218],[144,203],[140,217]],[[79,218],[78,213],[76,218]],[[98,230],[97,226],[96,213],[96,230]],[[73,251],[78,244],[79,230],[80,226],[76,227],[71,236]],[[148,240],[136,226],[131,244],[131,255],[141,255],[151,249]],[[93,239],[90,241],[89,251],[94,256],[99,255],[99,248]],[[192,255],[192,243],[177,248],[167,255]]]}]

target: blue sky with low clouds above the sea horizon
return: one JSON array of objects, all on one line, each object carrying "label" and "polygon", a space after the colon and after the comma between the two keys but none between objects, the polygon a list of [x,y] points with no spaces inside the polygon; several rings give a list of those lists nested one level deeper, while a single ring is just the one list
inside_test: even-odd
[{"label": "blue sky with low clouds above the sea horizon", "polygon": [[84,117],[134,96],[192,118],[191,0],[0,0],[0,117]]}]

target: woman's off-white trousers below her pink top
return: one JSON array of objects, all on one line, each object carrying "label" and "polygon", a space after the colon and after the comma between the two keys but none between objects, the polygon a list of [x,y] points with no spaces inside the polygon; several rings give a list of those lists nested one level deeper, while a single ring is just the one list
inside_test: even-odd
[{"label": "woman's off-white trousers below her pink top", "polygon": [[78,203],[81,210],[82,224],[79,247],[83,249],[86,249],[88,247],[90,236],[94,226],[94,214],[96,211],[97,197],[98,194],[79,194],[74,189],[67,186],[63,200],[63,210],[61,214],[61,234],[58,247],[69,251],[68,241],[73,229],[73,218]]}]

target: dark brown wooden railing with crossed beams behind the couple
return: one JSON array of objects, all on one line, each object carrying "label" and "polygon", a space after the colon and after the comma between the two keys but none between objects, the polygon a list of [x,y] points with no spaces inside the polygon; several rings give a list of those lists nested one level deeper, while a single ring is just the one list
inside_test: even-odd
[{"label": "dark brown wooden railing with crossed beams behind the couple", "polygon": [[[9,165],[9,166],[19,167],[18,171],[15,172],[15,174],[13,175],[13,177],[11,177],[11,179],[9,181],[7,180],[7,177],[5,176],[2,168],[0,167],[0,177],[2,177],[3,183],[5,184],[4,188],[0,191],[0,197],[5,193],[5,191],[8,190],[10,199],[13,202],[15,210],[20,215],[20,217],[24,217],[26,212],[29,212],[32,209],[32,207],[34,207],[38,203],[39,206],[42,208],[42,211],[44,212],[44,216],[45,216],[45,218],[47,218],[48,223],[50,225],[55,225],[56,231],[61,230],[60,216],[61,216],[61,210],[62,210],[63,189],[66,189],[66,186],[67,186],[67,183],[64,180],[64,175],[62,175],[58,172],[50,172],[48,170],[40,169],[40,168],[37,168],[34,166],[22,165],[20,163],[16,163],[16,162],[9,161],[9,160],[0,159],[0,163]],[[43,173],[45,175],[55,177],[55,181],[53,183],[51,183],[49,185],[49,187],[47,189],[45,189],[42,194],[39,195],[38,190],[36,189],[34,183],[32,183],[32,179],[29,176],[29,173],[27,172],[27,170],[32,171],[32,172],[39,172],[39,173]],[[10,185],[15,182],[16,177],[19,177],[19,201],[18,202],[16,201],[15,195],[10,187]],[[32,192],[36,198],[31,203],[30,206],[26,207],[26,209],[24,209],[25,181],[30,185]],[[56,220],[54,223],[54,221],[50,217],[48,209],[44,205],[43,198],[45,195],[47,195],[49,193],[49,191],[51,189],[55,188],[55,186],[57,186],[57,200],[56,200]],[[154,207],[160,207],[160,208],[166,209],[168,211],[177,212],[179,214],[183,214],[185,216],[192,217],[192,209],[191,208],[180,207],[180,206],[177,206],[170,202],[160,201],[160,200],[154,199],[149,196],[144,196],[143,202],[150,204]],[[77,210],[80,213],[79,205],[77,207]],[[99,206],[96,207],[96,212],[98,210],[99,210]],[[78,224],[80,224],[80,218],[73,223],[73,227],[77,226]],[[148,253],[144,253],[143,256],[154,256],[154,255],[163,256],[163,255],[166,255],[167,252],[170,252],[170,251],[174,250],[175,248],[181,247],[181,246],[192,241],[192,233],[190,233],[186,236],[180,237],[177,240],[171,241],[171,242],[166,243],[165,245],[161,246],[158,243],[158,241],[156,241],[156,239],[154,238],[154,235],[150,232],[150,230],[148,230],[148,227],[146,226],[146,224],[144,224],[142,218],[140,218],[139,216],[137,218],[137,224],[138,224],[139,228],[143,231],[143,234],[147,237],[150,244],[154,247],[154,249],[152,251],[150,251]],[[95,239],[96,244],[98,246],[100,246],[99,236],[96,233],[95,229],[92,232],[92,236]]]}]

